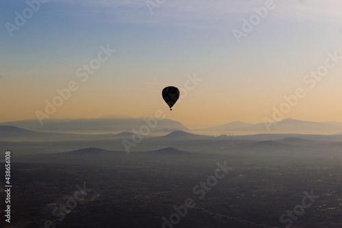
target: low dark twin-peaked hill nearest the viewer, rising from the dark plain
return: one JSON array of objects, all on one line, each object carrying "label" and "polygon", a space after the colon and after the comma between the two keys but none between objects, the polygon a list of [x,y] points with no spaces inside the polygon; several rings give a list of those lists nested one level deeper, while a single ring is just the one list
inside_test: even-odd
[{"label": "low dark twin-peaked hill nearest the viewer, rising from the dark plain", "polygon": [[[161,147],[162,148],[162,147]],[[77,166],[98,166],[101,168],[119,168],[124,173],[130,173],[132,169],[142,166],[153,167],[153,165],[174,166],[172,170],[179,168],[179,165],[189,167],[194,159],[201,159],[203,156],[198,153],[181,151],[174,148],[163,148],[155,151],[137,151],[126,153],[124,151],[111,151],[98,147],[77,149],[62,153],[39,153],[34,155],[21,156],[21,160],[34,161],[43,164],[62,164]],[[212,157],[212,155],[210,155]],[[91,168],[89,169],[91,170]]]}]

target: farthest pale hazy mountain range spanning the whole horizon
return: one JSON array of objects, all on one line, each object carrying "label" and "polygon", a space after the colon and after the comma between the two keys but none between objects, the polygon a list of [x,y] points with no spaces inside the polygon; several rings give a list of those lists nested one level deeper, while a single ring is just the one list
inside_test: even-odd
[{"label": "farthest pale hazy mountain range spanning the whole horizon", "polygon": [[[149,124],[149,125],[148,125]],[[280,122],[269,124],[269,131],[264,123],[249,124],[239,121],[225,125],[218,125],[204,129],[190,130],[178,121],[163,119],[146,123],[146,118],[131,118],[129,116],[103,116],[101,118],[79,118],[74,120],[47,120],[44,125],[40,125],[37,120],[14,121],[0,123],[5,126],[20,127],[31,131],[43,131],[51,133],[81,133],[81,134],[108,134],[121,133],[120,136],[129,136],[135,129],[140,131],[140,127],[149,128],[150,132],[156,134],[166,134],[172,132],[168,137],[181,138],[181,133],[177,131],[189,131],[200,134],[341,134],[342,123],[339,122],[310,122],[298,121],[287,118]],[[154,125],[156,127],[154,127]],[[153,126],[153,127],[150,127]],[[13,129],[12,129],[13,130]],[[11,134],[11,129],[2,129],[6,134]],[[130,133],[131,132],[131,133]],[[174,133],[175,132],[175,133]],[[23,134],[25,132],[22,132]],[[32,132],[31,132],[32,133]],[[4,134],[3,136],[5,136]],[[18,132],[16,132],[18,134]],[[29,132],[26,131],[26,134]],[[33,134],[33,133],[32,133]],[[35,134],[34,134],[35,135]],[[36,134],[36,136],[38,136]],[[187,135],[188,137],[189,135]]]}]

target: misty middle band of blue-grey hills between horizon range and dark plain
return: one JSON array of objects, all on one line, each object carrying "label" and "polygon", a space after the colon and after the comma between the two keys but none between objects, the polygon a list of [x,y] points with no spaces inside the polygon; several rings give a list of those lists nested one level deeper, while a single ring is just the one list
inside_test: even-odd
[{"label": "misty middle band of blue-grey hills between horizon range and dark plain", "polygon": [[[0,126],[0,148],[16,151],[16,155],[34,153],[61,153],[71,151],[70,155],[101,154],[121,156],[126,147],[123,139],[131,144],[131,153],[150,155],[188,155],[191,153],[280,153],[297,151],[326,150],[341,151],[341,134],[252,134],[241,136],[206,136],[185,131],[173,131],[165,136],[136,136],[123,131],[120,134],[62,134],[46,133],[21,129],[12,126]],[[140,139],[142,139],[140,141]],[[177,149],[174,149],[176,147]],[[80,148],[86,148],[81,149]],[[101,149],[98,149],[101,148]],[[113,154],[114,153],[114,154]],[[285,153],[286,154],[286,153]],[[133,156],[134,157],[134,156]],[[138,157],[136,158],[139,159]],[[66,160],[64,160],[67,162]],[[122,162],[124,162],[122,160]]]}]

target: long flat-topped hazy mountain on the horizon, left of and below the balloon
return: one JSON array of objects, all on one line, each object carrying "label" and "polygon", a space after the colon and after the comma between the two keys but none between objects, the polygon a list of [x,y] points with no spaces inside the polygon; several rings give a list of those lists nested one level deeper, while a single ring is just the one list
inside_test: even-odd
[{"label": "long flat-topped hazy mountain on the horizon, left of and below the balloon", "polygon": [[[150,131],[158,129],[180,129],[188,130],[183,124],[164,118],[131,118],[129,116],[103,116],[101,118],[78,118],[73,120],[49,120],[40,125],[38,120],[13,121],[0,123],[0,125],[9,125],[21,127],[33,131],[44,132],[63,132],[63,133],[114,133],[121,131],[140,131],[142,126],[147,126]],[[144,127],[146,129],[146,127]]]}]

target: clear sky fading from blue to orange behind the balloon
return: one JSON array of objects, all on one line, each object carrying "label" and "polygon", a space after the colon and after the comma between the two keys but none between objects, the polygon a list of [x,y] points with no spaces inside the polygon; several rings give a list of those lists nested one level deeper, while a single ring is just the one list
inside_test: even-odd
[{"label": "clear sky fading from blue to orange behind the balloon", "polygon": [[[0,122],[342,122],[341,1],[41,1],[0,0]],[[172,111],[166,86],[181,88]]]}]

